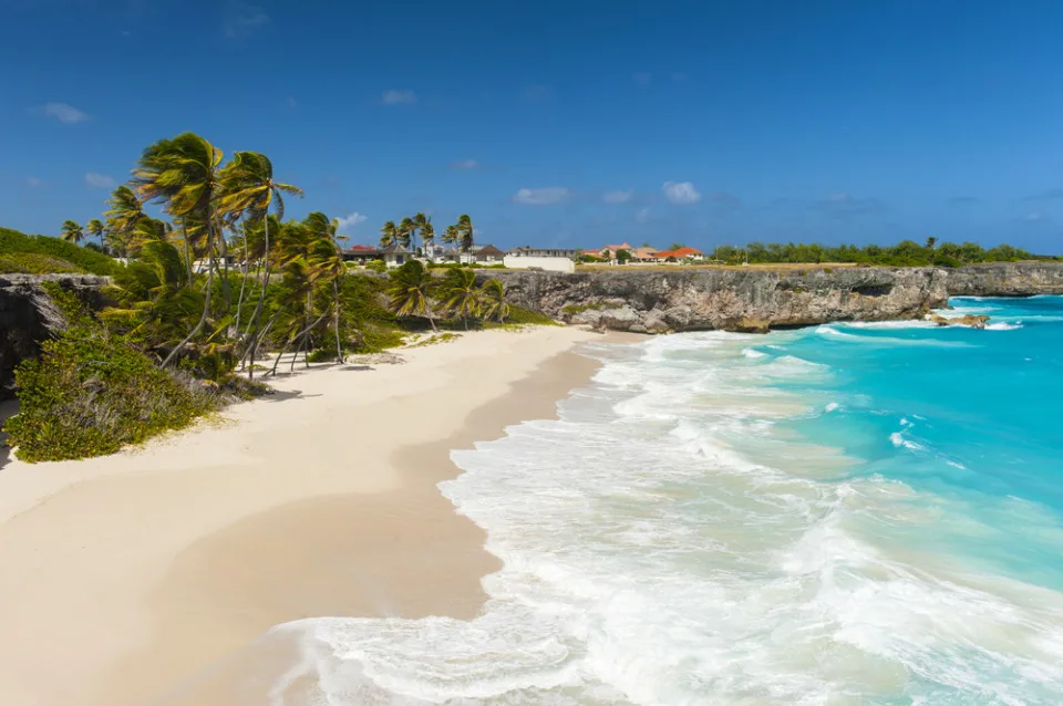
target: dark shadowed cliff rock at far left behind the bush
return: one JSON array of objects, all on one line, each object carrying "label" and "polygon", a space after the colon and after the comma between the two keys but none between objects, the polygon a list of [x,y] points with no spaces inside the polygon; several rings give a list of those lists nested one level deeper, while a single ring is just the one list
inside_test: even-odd
[{"label": "dark shadowed cliff rock at far left behind the bush", "polygon": [[0,399],[11,395],[14,367],[35,357],[41,342],[65,325],[41,282],[56,281],[99,307],[106,278],[82,274],[0,274]]}]

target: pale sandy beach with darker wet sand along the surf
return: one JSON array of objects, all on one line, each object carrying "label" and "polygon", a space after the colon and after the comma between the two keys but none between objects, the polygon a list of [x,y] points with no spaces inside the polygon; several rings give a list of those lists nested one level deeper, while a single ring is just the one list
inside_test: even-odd
[{"label": "pale sandy beach with darker wet sand along the surf", "polygon": [[435,487],[457,473],[448,451],[551,416],[596,365],[570,350],[595,338],[478,332],[281,377],[115,456],[10,460],[0,703],[184,703],[279,623],[474,615],[498,564]]}]

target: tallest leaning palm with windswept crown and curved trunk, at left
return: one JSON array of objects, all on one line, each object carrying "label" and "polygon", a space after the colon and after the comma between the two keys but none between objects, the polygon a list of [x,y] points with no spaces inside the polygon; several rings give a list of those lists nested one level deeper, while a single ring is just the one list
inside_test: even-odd
[{"label": "tallest leaning palm with windswept crown and curved trunk, at left", "polygon": [[193,218],[203,224],[206,232],[209,267],[203,313],[188,335],[163,359],[163,367],[199,333],[210,314],[210,294],[216,269],[215,240],[220,230],[217,199],[221,193],[221,150],[199,135],[184,133],[149,146],[133,169],[132,183],[142,200],[162,204],[167,212],[183,221]]}]

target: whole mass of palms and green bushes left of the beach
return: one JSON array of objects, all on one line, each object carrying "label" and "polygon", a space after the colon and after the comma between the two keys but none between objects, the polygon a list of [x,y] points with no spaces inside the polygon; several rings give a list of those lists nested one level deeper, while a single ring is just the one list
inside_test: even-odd
[{"label": "whole mass of palms and green bushes left of the beach", "polygon": [[[113,277],[113,305],[95,314],[58,285],[51,292],[70,325],[16,373],[21,408],[7,430],[20,456],[107,454],[180,428],[264,392],[251,378],[276,374],[282,357],[289,370],[300,357],[306,365],[342,362],[351,352],[402,344],[425,320],[433,328],[436,320],[466,328],[505,321],[502,284],[475,287],[469,270],[437,280],[413,261],[389,278],[350,272],[336,220],[321,212],[285,220],[285,196],[301,195],[275,179],[265,155],[237,152],[226,162],[202,136],[185,133],[144,150],[104,219],[65,221],[62,239],[0,230],[2,271]],[[149,216],[148,203],[164,217]],[[423,214],[401,228],[398,238],[434,238]],[[468,250],[468,216],[444,238]],[[256,363],[269,352],[269,364]]]}]

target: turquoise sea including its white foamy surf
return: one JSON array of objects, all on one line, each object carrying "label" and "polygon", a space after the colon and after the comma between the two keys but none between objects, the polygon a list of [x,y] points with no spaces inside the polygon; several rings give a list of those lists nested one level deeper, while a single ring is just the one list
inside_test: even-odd
[{"label": "turquoise sea including its white foamy surf", "polygon": [[504,561],[483,613],[289,624],[300,673],[330,705],[1063,703],[1063,298],[951,304],[991,325],[587,346],[559,419],[441,485]]}]

